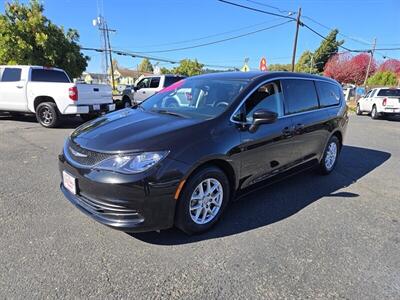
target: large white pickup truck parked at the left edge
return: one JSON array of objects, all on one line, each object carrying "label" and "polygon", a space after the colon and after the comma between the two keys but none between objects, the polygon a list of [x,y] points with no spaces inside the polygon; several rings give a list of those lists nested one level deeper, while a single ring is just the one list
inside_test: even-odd
[{"label": "large white pickup truck parked at the left edge", "polygon": [[34,113],[44,127],[57,127],[65,115],[88,120],[112,110],[107,85],[75,84],[56,68],[0,66],[0,111]]}]

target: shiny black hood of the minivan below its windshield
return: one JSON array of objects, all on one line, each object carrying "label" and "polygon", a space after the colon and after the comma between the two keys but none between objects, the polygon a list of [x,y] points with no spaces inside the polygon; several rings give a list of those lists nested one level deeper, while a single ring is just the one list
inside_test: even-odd
[{"label": "shiny black hood of the minivan below its windshield", "polygon": [[98,152],[171,150],[184,132],[201,122],[127,108],[83,124],[71,139]]}]

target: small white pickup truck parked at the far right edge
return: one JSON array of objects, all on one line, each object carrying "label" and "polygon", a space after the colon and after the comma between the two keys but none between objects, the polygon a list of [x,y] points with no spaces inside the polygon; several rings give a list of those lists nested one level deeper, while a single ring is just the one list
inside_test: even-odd
[{"label": "small white pickup truck parked at the far right edge", "polygon": [[357,102],[357,115],[365,112],[371,114],[372,119],[400,115],[400,89],[384,87],[370,90]]}]

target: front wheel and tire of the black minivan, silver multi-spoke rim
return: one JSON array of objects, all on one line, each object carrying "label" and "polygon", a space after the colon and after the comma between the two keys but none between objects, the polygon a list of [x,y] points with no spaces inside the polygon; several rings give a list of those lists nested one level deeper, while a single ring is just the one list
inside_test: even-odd
[{"label": "front wheel and tire of the black minivan, silver multi-spoke rim", "polygon": [[209,230],[221,217],[230,198],[230,184],[217,167],[193,174],[178,199],[175,225],[187,234]]}]

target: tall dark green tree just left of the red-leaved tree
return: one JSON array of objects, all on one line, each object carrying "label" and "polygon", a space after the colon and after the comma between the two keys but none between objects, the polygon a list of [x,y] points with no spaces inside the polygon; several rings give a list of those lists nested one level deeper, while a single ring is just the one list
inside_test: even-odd
[{"label": "tall dark green tree just left of the red-leaved tree", "polygon": [[324,71],[324,66],[329,58],[338,52],[339,46],[341,46],[344,41],[337,41],[336,37],[339,31],[337,29],[332,30],[326,39],[321,42],[321,45],[314,52],[313,65],[318,70],[318,73]]}]

